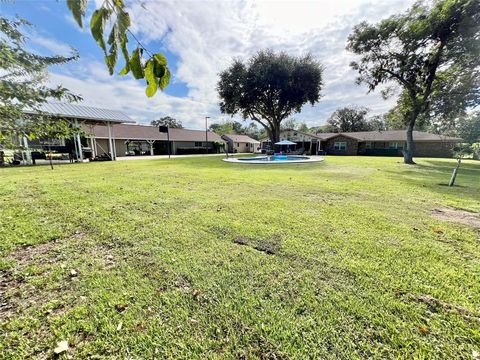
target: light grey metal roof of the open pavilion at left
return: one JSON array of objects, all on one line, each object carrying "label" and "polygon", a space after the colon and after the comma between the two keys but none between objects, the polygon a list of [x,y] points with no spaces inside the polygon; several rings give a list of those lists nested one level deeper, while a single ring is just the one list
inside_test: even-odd
[{"label": "light grey metal roof of the open pavilion at left", "polygon": [[[111,121],[116,123],[134,123],[125,113],[117,110],[102,109],[92,106],[73,105],[59,102],[41,104],[38,110],[65,118]],[[36,114],[36,110],[26,110],[26,113]]]}]

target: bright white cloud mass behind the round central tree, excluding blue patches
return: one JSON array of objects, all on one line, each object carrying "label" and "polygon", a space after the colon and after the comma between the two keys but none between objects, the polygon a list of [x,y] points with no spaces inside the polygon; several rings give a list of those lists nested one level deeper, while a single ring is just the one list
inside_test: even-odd
[{"label": "bright white cloud mass behind the round central tree, excluding blue patches", "polygon": [[129,10],[133,31],[147,47],[161,42],[178,56],[175,81],[187,85],[187,97],[159,94],[147,99],[142,82],[102,76],[107,70],[99,63],[85,67],[86,80],[58,74],[52,80],[82,93],[92,105],[123,109],[141,121],[168,114],[201,128],[205,115],[212,120],[225,118],[218,109],[218,73],[234,57],[247,59],[259,49],[272,48],[293,55],[310,52],[325,66],[324,97],[314,107],[305,106],[294,116],[297,120],[319,125],[337,107],[349,104],[380,113],[394,99],[367,95],[366,88],[355,85],[356,74],[349,67],[353,56],[345,50],[347,36],[360,21],[378,21],[412,2],[156,1],[145,2],[143,7],[135,1]]}]

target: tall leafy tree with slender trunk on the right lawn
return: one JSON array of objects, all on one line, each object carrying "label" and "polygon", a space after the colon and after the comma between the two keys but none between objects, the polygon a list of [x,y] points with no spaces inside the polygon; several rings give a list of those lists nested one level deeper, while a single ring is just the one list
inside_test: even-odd
[{"label": "tall leafy tree with slender trunk on the right lawn", "polygon": [[[349,36],[347,49],[360,56],[351,64],[359,72],[357,82],[367,84],[369,91],[381,84],[401,88],[405,163],[414,163],[417,119],[434,111],[434,104],[443,101],[437,108],[458,112],[479,103],[479,36],[478,0],[419,1],[376,25],[362,22]],[[388,96],[389,90],[382,94]]]}]

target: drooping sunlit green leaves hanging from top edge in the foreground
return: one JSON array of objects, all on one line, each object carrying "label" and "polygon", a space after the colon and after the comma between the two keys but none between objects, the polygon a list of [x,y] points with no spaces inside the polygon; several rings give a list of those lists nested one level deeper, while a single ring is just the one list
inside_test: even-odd
[{"label": "drooping sunlit green leaves hanging from top edge in the foreground", "polygon": [[[83,28],[88,0],[67,0],[67,6],[75,21]],[[111,25],[110,29],[106,28],[108,25]],[[130,31],[130,25],[130,15],[126,11],[123,0],[102,1],[102,5],[95,9],[90,18],[92,36],[103,50],[110,75],[115,72],[118,53],[121,52],[125,65],[119,75],[131,72],[135,79],[145,79],[147,82],[145,93],[151,97],[155,95],[157,89],[163,90],[170,82],[167,58],[161,53],[152,53],[143,46]],[[108,40],[105,42],[106,34],[108,34]],[[136,47],[132,51],[128,49],[129,37],[136,42]],[[144,55],[147,56],[146,60],[143,60]]]}]

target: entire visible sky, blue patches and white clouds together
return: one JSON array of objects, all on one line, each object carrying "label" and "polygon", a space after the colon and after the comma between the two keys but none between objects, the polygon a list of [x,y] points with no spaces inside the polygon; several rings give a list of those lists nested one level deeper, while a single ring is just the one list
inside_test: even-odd
[{"label": "entire visible sky, blue patches and white clouds together", "polygon": [[[88,25],[100,3],[90,2],[83,31],[62,0],[16,0],[1,2],[0,8],[2,14],[18,15],[34,25],[28,30],[28,46],[35,51],[67,55],[73,47],[79,52],[78,61],[50,69],[52,85],[82,95],[86,105],[122,110],[139,123],[170,115],[190,128],[201,128],[205,116],[213,122],[229,119],[218,109],[218,73],[233,57],[248,59],[267,47],[292,55],[310,52],[325,67],[322,99],[314,107],[304,106],[293,116],[296,120],[321,125],[346,105],[366,106],[372,114],[387,111],[395,98],[385,101],[355,85],[356,74],[348,66],[354,57],[345,42],[355,24],[404,11],[412,1],[127,0],[133,32],[149,50],[167,56],[173,73],[165,92],[150,99],[143,81],[108,75]],[[118,71],[122,65],[120,59]]]}]

